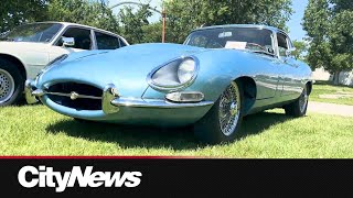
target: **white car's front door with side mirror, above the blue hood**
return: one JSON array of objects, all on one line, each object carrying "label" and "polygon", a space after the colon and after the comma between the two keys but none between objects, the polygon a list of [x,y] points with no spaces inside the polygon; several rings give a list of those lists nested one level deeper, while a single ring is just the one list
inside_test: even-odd
[{"label": "white car's front door with side mirror, above the blue hood", "polygon": [[[74,45],[63,46],[62,37],[73,37]],[[92,31],[81,26],[68,26],[50,51],[50,62],[63,54],[94,50]]]}]

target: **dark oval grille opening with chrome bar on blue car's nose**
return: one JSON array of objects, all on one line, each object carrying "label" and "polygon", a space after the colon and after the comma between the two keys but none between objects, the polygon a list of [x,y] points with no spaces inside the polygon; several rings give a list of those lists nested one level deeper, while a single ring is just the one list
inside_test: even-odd
[{"label": "dark oval grille opening with chrome bar on blue car's nose", "polygon": [[101,110],[101,99],[92,98],[76,98],[72,99],[69,96],[57,96],[54,94],[72,94],[76,92],[79,96],[101,97],[103,90],[90,85],[76,82],[55,84],[47,89],[47,97],[57,105],[73,108],[76,110]]}]

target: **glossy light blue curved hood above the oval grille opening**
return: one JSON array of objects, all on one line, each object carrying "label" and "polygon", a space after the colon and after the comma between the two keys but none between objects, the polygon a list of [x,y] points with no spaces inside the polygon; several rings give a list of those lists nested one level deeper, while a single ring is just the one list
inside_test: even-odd
[{"label": "glossy light blue curved hood above the oval grille opening", "polygon": [[115,51],[74,53],[45,72],[39,86],[56,81],[77,81],[104,88],[115,84],[121,96],[141,97],[147,75],[173,58],[207,51],[180,44],[138,44]]}]

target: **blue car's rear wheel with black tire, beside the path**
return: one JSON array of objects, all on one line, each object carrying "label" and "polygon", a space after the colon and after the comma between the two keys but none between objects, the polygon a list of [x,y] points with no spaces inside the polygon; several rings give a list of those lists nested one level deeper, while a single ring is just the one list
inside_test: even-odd
[{"label": "blue car's rear wheel with black tire, beside the path", "polygon": [[306,116],[308,109],[308,101],[309,94],[308,86],[306,86],[297,100],[284,107],[286,114],[296,118]]}]

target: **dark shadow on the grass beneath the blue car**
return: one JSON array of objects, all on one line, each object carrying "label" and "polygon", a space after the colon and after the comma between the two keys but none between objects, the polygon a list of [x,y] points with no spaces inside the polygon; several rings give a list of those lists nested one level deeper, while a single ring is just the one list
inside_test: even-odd
[{"label": "dark shadow on the grass beneath the blue car", "polygon": [[[269,127],[282,123],[289,119],[291,118],[284,113],[275,112],[261,112],[247,116],[244,118],[237,140],[261,133]],[[152,128],[64,120],[49,125],[46,130],[54,134],[64,132],[69,136],[82,138],[89,141],[116,143],[126,148],[171,147],[173,150],[192,150],[206,146],[194,139],[191,127]]]}]

